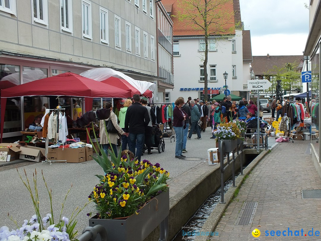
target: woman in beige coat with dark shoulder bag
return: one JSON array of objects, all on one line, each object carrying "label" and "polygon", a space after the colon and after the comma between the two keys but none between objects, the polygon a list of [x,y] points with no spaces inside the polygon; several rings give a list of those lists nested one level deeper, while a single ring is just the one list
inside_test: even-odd
[{"label": "woman in beige coat with dark shoulder bag", "polygon": [[125,135],[125,132],[118,125],[117,116],[113,112],[113,107],[110,102],[106,104],[106,109],[110,109],[110,117],[106,120],[101,120],[99,122],[100,145],[102,145],[106,154],[108,154],[107,150],[108,150],[108,147],[110,146],[114,150],[115,155],[117,156],[117,139],[119,139],[118,133],[108,133],[108,137],[110,140],[110,143],[109,143],[106,130],[105,130],[104,121],[108,121],[110,119],[114,127],[118,130],[118,132],[121,135]]}]

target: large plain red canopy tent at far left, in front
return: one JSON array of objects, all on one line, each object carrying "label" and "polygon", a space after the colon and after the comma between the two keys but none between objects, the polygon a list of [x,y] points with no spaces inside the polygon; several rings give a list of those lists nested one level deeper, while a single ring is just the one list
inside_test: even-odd
[{"label": "large plain red canopy tent at far left, in front", "polygon": [[92,110],[92,98],[127,98],[131,97],[128,90],[113,85],[100,83],[74,73],[38,79],[22,85],[1,90],[1,142],[4,127],[4,115],[7,98],[20,96],[75,96],[85,98],[85,112]]}]

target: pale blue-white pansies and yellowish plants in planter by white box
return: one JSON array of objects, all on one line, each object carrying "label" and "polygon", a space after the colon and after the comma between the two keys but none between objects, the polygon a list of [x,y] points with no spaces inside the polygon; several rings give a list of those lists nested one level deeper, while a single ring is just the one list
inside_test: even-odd
[{"label": "pale blue-white pansies and yellowish plants in planter by white box", "polygon": [[214,131],[216,140],[235,140],[241,138],[241,131],[236,123],[230,121],[228,123],[220,123]]}]

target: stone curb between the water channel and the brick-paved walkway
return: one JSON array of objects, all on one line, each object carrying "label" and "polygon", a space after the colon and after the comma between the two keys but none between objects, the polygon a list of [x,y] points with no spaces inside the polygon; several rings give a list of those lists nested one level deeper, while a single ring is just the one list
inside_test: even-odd
[{"label": "stone curb between the water channel and the brick-paved walkway", "polygon": [[[273,147],[274,148],[274,147]],[[273,149],[272,148],[272,149]],[[230,187],[229,190],[224,194],[224,201],[226,203],[224,204],[218,204],[213,212],[210,214],[210,216],[207,218],[206,222],[204,223],[203,227],[200,230],[201,233],[209,232],[211,233],[214,228],[219,223],[225,209],[229,206],[235,191],[241,186],[243,181],[245,180],[246,175],[250,173],[250,171],[268,154],[271,150],[263,150],[247,167],[243,170],[243,176],[239,175],[235,179],[235,185],[236,187]],[[211,240],[211,236],[208,235],[199,235],[196,236],[195,241],[205,241],[205,240]]]}]

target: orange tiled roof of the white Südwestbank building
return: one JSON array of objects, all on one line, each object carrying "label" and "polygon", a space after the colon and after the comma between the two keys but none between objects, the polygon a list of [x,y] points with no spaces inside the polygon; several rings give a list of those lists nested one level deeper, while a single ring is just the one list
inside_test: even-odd
[{"label": "orange tiled roof of the white S\u00fcdwestbank building", "polygon": [[[183,20],[179,19],[180,14],[187,13],[187,6],[184,5],[182,1],[162,0],[161,2],[167,13],[170,13],[170,18],[173,21],[173,36],[204,35],[204,30],[191,20],[186,18]],[[200,2],[203,3],[203,1]],[[213,32],[213,35],[235,34],[235,23],[240,22],[241,18],[239,9],[239,0],[227,0],[224,4],[215,8],[214,13],[221,17],[215,20],[215,22],[219,23],[218,26],[214,24],[212,25],[213,28],[211,29],[211,32]],[[199,19],[198,22],[202,23],[203,20],[197,13],[196,16]]]}]

